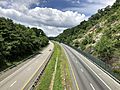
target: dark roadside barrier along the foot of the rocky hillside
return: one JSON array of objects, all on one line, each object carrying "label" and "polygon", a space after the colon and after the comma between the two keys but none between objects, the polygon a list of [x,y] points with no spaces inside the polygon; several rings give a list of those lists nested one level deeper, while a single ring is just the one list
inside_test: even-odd
[{"label": "dark roadside barrier along the foot of the rocky hillside", "polygon": [[[66,44],[68,45],[68,44]],[[93,57],[91,54],[83,52],[82,50],[73,47],[71,45],[68,45],[70,47],[72,47],[73,49],[75,49],[76,51],[78,51],[79,53],[81,53],[82,55],[84,55],[88,60],[90,60],[91,62],[93,62],[94,64],[96,64],[98,67],[100,67],[105,73],[107,73],[110,77],[112,77],[115,81],[117,81],[118,83],[120,83],[120,74],[113,72],[112,70],[112,66],[103,62],[102,60]]]}]

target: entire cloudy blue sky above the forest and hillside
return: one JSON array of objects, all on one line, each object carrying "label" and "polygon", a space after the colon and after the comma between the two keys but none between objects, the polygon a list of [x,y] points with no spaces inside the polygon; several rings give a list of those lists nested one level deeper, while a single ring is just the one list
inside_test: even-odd
[{"label": "entire cloudy blue sky above the forest and hillside", "polygon": [[116,0],[0,0],[0,17],[57,36]]}]

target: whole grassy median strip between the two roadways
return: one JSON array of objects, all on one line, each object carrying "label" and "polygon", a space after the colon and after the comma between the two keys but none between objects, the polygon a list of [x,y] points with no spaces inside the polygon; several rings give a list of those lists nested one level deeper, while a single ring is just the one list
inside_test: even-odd
[{"label": "whole grassy median strip between the two roadways", "polygon": [[[37,90],[69,90],[71,88],[71,79],[69,72],[69,65],[63,49],[59,44],[54,42],[54,53],[40,78],[39,86]],[[57,61],[56,73],[55,64]],[[53,74],[55,74],[53,80]],[[51,84],[53,83],[53,84]],[[52,85],[52,86],[51,86]]]}]

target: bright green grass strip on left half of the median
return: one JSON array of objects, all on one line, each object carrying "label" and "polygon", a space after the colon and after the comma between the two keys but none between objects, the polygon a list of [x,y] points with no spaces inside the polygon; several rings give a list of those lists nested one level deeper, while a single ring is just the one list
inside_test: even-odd
[{"label": "bright green grass strip on left half of the median", "polygon": [[37,90],[48,90],[49,89],[49,85],[51,83],[51,79],[52,79],[52,74],[54,72],[54,66],[55,66],[55,61],[56,61],[56,57],[58,54],[58,49],[57,49],[57,45],[55,44],[55,48],[54,48],[54,53],[40,79],[40,84]]}]

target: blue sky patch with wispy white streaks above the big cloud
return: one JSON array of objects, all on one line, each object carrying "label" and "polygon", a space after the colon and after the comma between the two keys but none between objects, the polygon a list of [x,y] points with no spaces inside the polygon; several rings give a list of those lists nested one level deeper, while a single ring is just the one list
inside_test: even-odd
[{"label": "blue sky patch with wispy white streaks above the big cloud", "polygon": [[31,8],[47,7],[56,8],[61,11],[77,11],[86,16],[91,16],[98,9],[104,8],[107,5],[112,5],[115,0],[40,0],[38,5],[31,5]]}]

